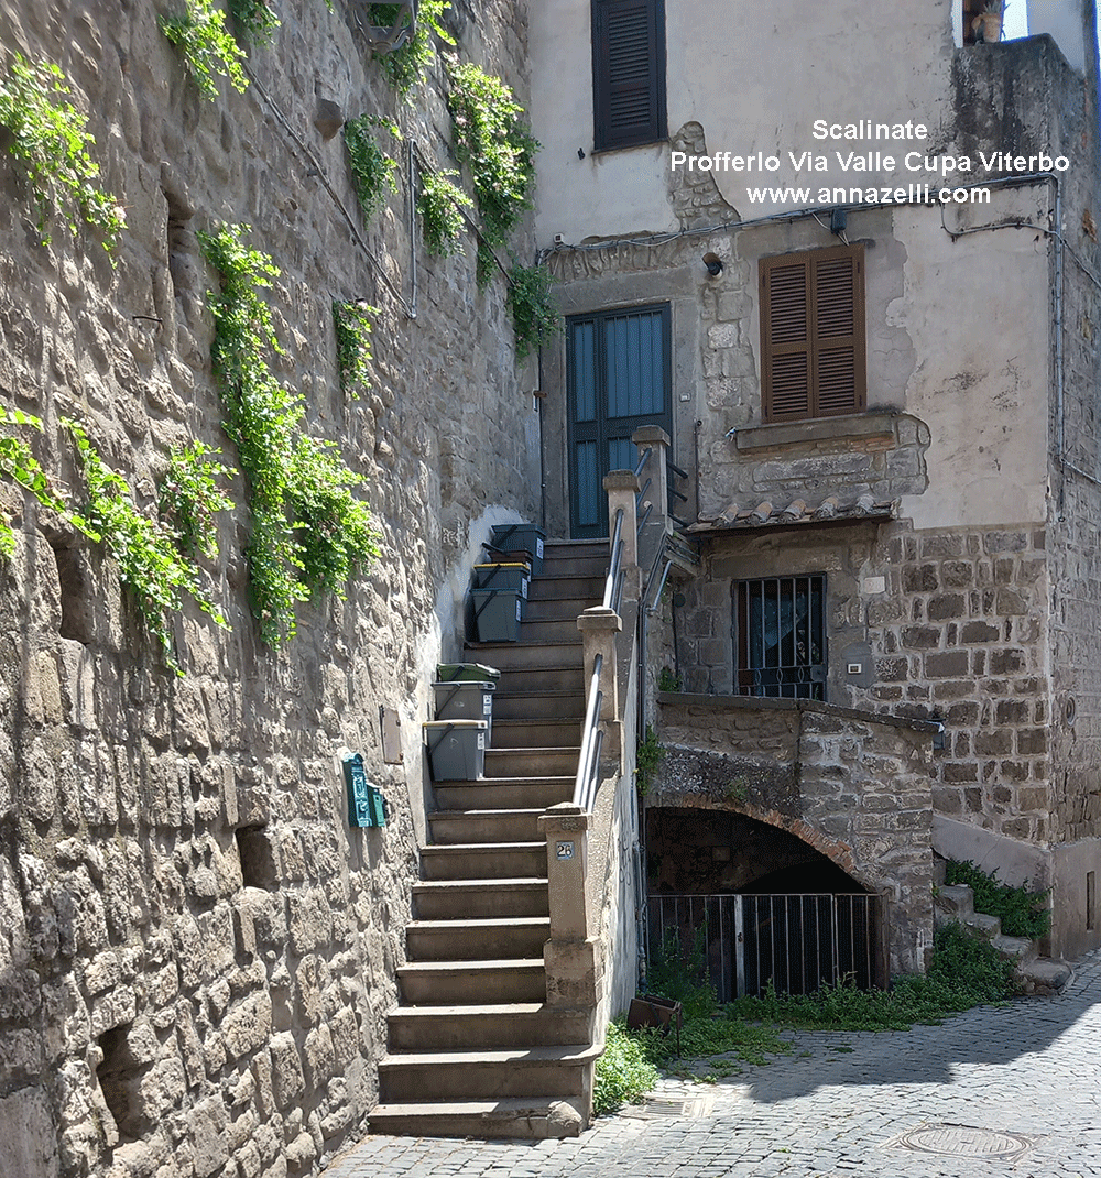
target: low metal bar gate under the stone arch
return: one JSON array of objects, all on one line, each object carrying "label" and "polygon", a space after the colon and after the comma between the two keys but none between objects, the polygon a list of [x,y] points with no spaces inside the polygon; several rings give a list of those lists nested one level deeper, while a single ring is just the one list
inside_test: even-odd
[{"label": "low metal bar gate under the stone arch", "polygon": [[[651,952],[688,961],[699,949],[721,1002],[762,994],[810,994],[842,978],[858,990],[886,985],[878,896],[651,895]],[[701,979],[703,980],[703,979]]]}]

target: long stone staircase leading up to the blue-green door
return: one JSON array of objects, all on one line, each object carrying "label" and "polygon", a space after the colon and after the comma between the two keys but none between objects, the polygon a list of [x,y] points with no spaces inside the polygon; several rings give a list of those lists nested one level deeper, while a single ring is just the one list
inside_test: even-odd
[{"label": "long stone staircase leading up to the blue-green door", "polygon": [[467,643],[497,667],[480,781],[440,782],[413,887],[400,1005],[389,1015],[374,1133],[577,1136],[585,1070],[598,1054],[588,1011],[546,1005],[546,839],[539,815],[570,801],[584,714],[577,615],[598,604],[605,542],[546,544],[520,641]]}]

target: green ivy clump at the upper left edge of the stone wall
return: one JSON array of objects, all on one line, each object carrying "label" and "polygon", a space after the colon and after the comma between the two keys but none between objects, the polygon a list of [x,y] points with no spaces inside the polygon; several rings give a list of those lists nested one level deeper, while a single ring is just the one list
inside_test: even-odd
[{"label": "green ivy clump at the upper left edge of the stone wall", "polygon": [[0,81],[0,126],[8,132],[8,154],[27,171],[42,245],[49,241],[47,219],[61,212],[71,233],[82,221],[104,234],[110,252],[118,245],[126,214],[97,183],[99,165],[87,152],[95,138],[88,120],[66,101],[71,93],[58,66],[33,64],[16,53]]}]

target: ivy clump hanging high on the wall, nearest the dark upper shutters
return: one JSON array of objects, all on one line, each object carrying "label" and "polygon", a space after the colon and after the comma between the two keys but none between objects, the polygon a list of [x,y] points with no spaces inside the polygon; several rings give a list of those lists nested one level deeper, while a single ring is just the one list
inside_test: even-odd
[{"label": "ivy clump hanging high on the wall, nearest the dark upper shutters", "polygon": [[470,165],[483,236],[490,246],[500,246],[532,206],[539,144],[523,119],[524,108],[499,78],[455,61],[449,74],[455,152]]}]

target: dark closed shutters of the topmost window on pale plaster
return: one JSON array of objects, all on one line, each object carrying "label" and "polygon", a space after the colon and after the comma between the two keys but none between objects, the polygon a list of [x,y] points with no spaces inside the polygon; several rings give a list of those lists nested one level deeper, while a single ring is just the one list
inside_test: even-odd
[{"label": "dark closed shutters of the topmost window on pale plaster", "polygon": [[663,0],[592,0],[592,99],[597,151],[665,138]]}]

